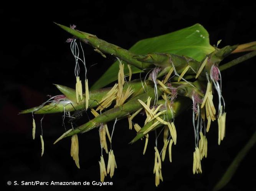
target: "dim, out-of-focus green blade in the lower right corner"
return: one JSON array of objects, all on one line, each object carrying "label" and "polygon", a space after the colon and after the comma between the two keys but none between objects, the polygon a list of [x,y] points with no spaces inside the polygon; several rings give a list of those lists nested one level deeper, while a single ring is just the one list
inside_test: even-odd
[{"label": "dim, out-of-focus green blade in the lower right corner", "polygon": [[256,131],[254,132],[251,139],[249,139],[247,144],[243,147],[243,149],[238,153],[238,155],[236,155],[235,159],[230,164],[230,166],[228,167],[224,175],[221,177],[220,181],[213,188],[213,191],[218,191],[224,186],[226,186],[226,184],[228,184],[232,176],[235,174],[236,169],[239,167],[240,162],[243,160],[243,158],[251,149],[251,147],[254,146],[255,142],[256,142]]}]

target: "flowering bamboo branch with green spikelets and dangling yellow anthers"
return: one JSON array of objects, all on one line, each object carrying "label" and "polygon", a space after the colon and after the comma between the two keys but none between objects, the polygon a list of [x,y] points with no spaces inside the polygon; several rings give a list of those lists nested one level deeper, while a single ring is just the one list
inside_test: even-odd
[{"label": "flowering bamboo branch with green spikelets and dangling yellow anthers", "polygon": [[[129,129],[134,127],[136,135],[130,143],[145,138],[143,154],[145,154],[147,143],[149,139],[151,139],[149,138],[150,132],[154,131],[157,134],[155,141],[157,142],[158,136],[164,131],[164,145],[162,150],[159,152],[159,146],[157,146],[157,144],[154,147],[155,185],[158,186],[160,180],[163,181],[161,160],[164,161],[168,147],[169,160],[172,162],[172,144],[176,145],[178,142],[176,131],[178,126],[174,123],[174,119],[192,105],[192,126],[195,136],[192,172],[194,174],[202,173],[201,160],[207,157],[208,141],[206,139],[206,132],[210,130],[213,121],[218,121],[218,144],[220,144],[225,137],[226,112],[225,102],[221,94],[220,71],[247,60],[255,56],[256,53],[255,51],[248,53],[220,67],[219,64],[231,53],[253,49],[254,43],[240,46],[226,46],[218,49],[219,41],[215,50],[205,55],[203,60],[197,61],[187,56],[165,52],[149,52],[147,54],[137,55],[129,50],[122,49],[117,45],[101,40],[95,35],[78,31],[75,29],[75,26],[69,28],[60,24],[57,25],[73,35],[73,38],[69,39],[68,42],[71,43],[71,52],[76,61],[76,89],[56,85],[63,95],[51,97],[40,106],[24,110],[21,113],[32,113],[33,115],[63,112],[63,117],[69,118],[69,126],[71,128],[61,135],[54,144],[63,138],[71,136],[71,156],[78,168],[80,168],[78,134],[99,128],[101,144],[99,166],[101,181],[104,181],[108,173],[110,173],[112,177],[115,168],[117,168],[111,141],[117,120],[127,118]],[[194,33],[197,32],[200,31],[197,30]],[[80,46],[77,44],[77,40],[81,40]],[[89,91],[89,82],[86,77],[87,69],[81,42],[91,45],[94,50],[103,57],[106,57],[105,54],[109,54],[117,58],[119,61],[118,81],[113,87]],[[79,57],[79,49],[82,51],[83,57]],[[79,64],[81,63],[85,68],[84,94],[82,81],[79,77]],[[128,82],[125,82],[124,63],[128,64],[127,66],[129,68]],[[142,79],[131,81],[132,69],[130,65],[147,72],[144,81],[142,81]],[[218,107],[216,108],[213,104],[214,91],[216,92],[216,99],[218,100]],[[71,115],[70,112],[77,112],[78,110],[89,111],[89,109],[94,115],[94,118],[84,125],[74,128],[73,120],[78,119],[81,115]],[[100,113],[98,113],[98,111]],[[140,112],[143,112],[146,116],[144,124],[141,125],[142,127],[138,123],[133,124],[132,121]],[[109,132],[107,127],[109,121],[114,121],[112,133]],[[205,122],[207,122],[206,126],[204,125]],[[106,135],[111,146],[110,151],[107,149]],[[33,118],[33,137],[34,136],[35,123]],[[42,136],[41,142],[43,155],[44,144]],[[102,149],[105,149],[109,157],[107,169]]]}]

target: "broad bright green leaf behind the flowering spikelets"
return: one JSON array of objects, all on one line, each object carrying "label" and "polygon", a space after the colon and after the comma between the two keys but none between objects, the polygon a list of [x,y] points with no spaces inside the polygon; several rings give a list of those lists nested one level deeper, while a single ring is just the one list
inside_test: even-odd
[{"label": "broad bright green leaf behind the flowering spikelets", "polygon": [[[173,53],[201,61],[215,49],[210,45],[209,34],[206,29],[201,24],[195,24],[179,31],[140,40],[129,50],[138,55],[153,52]],[[131,66],[131,68],[134,74],[141,72],[140,69],[134,66]],[[99,89],[117,80],[118,71],[119,65],[117,61],[93,84],[91,90]],[[125,75],[129,74],[127,65],[125,65],[124,73]]]}]

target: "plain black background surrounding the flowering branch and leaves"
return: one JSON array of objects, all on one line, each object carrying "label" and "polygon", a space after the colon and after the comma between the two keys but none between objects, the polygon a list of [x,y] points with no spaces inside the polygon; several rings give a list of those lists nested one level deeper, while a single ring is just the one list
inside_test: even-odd
[{"label": "plain black background surrounding the flowering branch and leaves", "polygon": [[[57,95],[54,84],[74,87],[74,59],[65,40],[70,37],[53,22],[76,24],[81,31],[97,35],[108,42],[129,49],[147,37],[202,24],[210,34],[210,43],[222,39],[220,47],[255,41],[255,3],[241,1],[168,1],[140,3],[104,1],[83,3],[36,4],[10,2],[0,9],[1,56],[1,186],[12,190],[35,187],[7,186],[7,181],[99,181],[100,146],[95,129],[79,135],[79,170],[70,156],[69,138],[53,145],[64,131],[61,114],[43,120],[45,153],[41,157],[40,116],[36,116],[36,139],[32,139],[31,115],[17,115],[20,110],[40,105],[46,95]],[[114,58],[101,57],[84,45],[89,84],[93,84],[111,65]],[[232,55],[223,63],[238,57]],[[208,157],[202,160],[202,175],[193,175],[194,135],[192,110],[175,119],[178,142],[173,147],[173,162],[168,155],[162,163],[164,182],[157,190],[211,190],[238,151],[255,131],[255,58],[223,71],[223,96],[226,101],[226,137],[218,146],[217,123],[211,125]],[[137,122],[143,123],[138,120]],[[109,129],[112,129],[109,123]],[[127,120],[118,121],[112,146],[117,161],[112,190],[154,190],[154,141],[151,136],[147,152],[144,141],[127,144],[135,135]],[[161,142],[162,138],[159,139]],[[105,162],[107,157],[104,157]],[[255,146],[241,162],[230,183],[223,190],[256,190]],[[37,190],[76,190],[69,187],[38,187]],[[84,187],[83,189],[106,189]]]}]

